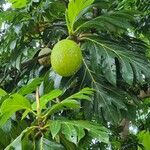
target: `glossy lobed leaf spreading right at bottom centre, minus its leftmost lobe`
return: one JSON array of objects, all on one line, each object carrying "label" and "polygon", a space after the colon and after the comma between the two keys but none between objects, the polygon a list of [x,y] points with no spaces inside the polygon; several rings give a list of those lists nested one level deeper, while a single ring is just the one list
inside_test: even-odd
[{"label": "glossy lobed leaf spreading right at bottom centre, minus its leftmost lobe", "polygon": [[66,139],[76,145],[85,136],[85,130],[88,131],[89,135],[92,136],[93,139],[97,139],[100,142],[109,143],[109,130],[99,124],[82,120],[58,121],[62,126],[61,132],[65,135]]}]

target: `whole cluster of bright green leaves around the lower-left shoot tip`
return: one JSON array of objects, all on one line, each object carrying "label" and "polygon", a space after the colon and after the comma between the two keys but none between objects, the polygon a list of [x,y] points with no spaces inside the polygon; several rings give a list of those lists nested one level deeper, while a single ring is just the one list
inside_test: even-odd
[{"label": "whole cluster of bright green leaves around the lower-left shoot tip", "polygon": [[[26,87],[26,89],[29,88],[30,86]],[[9,95],[9,97],[6,98],[1,105],[1,127],[7,122],[8,119],[12,120],[11,116],[19,110],[25,110],[25,112],[27,112],[24,113],[26,116],[29,115],[29,112],[31,112],[30,115],[32,115],[34,119],[33,122],[31,122],[30,127],[24,129],[20,135],[16,137],[16,139],[14,139],[14,141],[5,149],[7,150],[17,147],[20,147],[20,149],[25,149],[29,146],[28,144],[31,143],[31,137],[32,143],[34,144],[30,145],[30,147],[39,147],[40,149],[43,149],[42,147],[46,147],[44,142],[45,140],[48,147],[52,142],[52,148],[54,149],[68,147],[68,142],[71,142],[71,147],[69,149],[75,149],[75,147],[78,146],[80,140],[83,139],[85,135],[96,138],[100,142],[108,143],[109,131],[105,127],[85,120],[68,121],[67,116],[66,120],[62,120],[63,118],[61,119],[62,110],[67,111],[70,109],[72,111],[73,109],[79,109],[80,102],[78,99],[90,100],[90,95],[92,93],[92,89],[84,88],[78,93],[75,93],[70,97],[65,98],[64,100],[58,101],[58,96],[62,94],[62,91],[53,90],[50,93],[43,95],[39,99],[39,108],[38,102],[32,103],[31,99],[26,98],[27,95]],[[36,100],[38,101],[38,98]],[[22,116],[23,118],[25,117],[24,114]],[[55,120],[57,117],[59,117],[59,119]],[[11,122],[9,122],[9,124],[11,125]],[[51,141],[48,139],[51,139]],[[35,144],[36,140],[40,140],[39,145]]]}]

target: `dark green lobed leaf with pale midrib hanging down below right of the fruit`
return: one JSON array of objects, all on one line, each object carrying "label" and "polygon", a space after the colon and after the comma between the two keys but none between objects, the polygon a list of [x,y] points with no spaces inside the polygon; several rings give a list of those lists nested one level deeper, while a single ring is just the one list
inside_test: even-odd
[{"label": "dark green lobed leaf with pale midrib hanging down below right of the fruit", "polygon": [[[112,86],[100,73],[94,73],[95,70],[90,70],[88,67],[90,65],[87,61],[84,61],[84,64],[89,75],[88,78],[91,78],[92,87],[96,91],[93,101],[96,117],[100,120],[105,119],[111,123],[117,123],[121,118],[121,110],[127,113],[128,103],[134,108],[133,101],[136,100],[136,98],[116,86]],[[86,107],[91,110],[90,106],[86,105]],[[101,118],[101,116],[103,116],[103,118]]]}]

